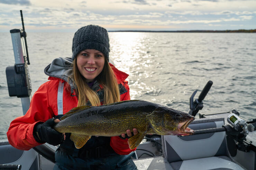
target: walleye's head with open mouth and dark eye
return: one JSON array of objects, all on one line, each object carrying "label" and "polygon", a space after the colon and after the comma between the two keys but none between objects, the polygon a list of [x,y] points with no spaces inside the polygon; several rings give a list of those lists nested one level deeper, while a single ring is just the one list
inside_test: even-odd
[{"label": "walleye's head with open mouth and dark eye", "polygon": [[147,115],[152,129],[158,135],[193,135],[189,124],[195,119],[194,116],[168,107],[158,107],[152,114]]}]

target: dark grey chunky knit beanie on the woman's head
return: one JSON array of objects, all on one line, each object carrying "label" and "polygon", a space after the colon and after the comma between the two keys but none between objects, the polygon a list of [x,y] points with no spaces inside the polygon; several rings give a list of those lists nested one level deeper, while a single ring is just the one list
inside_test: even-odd
[{"label": "dark grey chunky knit beanie on the woman's head", "polygon": [[98,25],[87,25],[76,31],[72,44],[72,60],[77,54],[86,49],[102,52],[109,61],[108,31]]}]

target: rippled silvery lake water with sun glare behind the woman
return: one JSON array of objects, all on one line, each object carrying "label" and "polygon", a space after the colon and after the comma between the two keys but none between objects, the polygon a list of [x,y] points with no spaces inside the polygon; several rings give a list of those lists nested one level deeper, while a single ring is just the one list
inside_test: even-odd
[{"label": "rippled silvery lake water with sun glare behind the woman", "polygon": [[[27,33],[34,93],[47,81],[43,70],[56,57],[71,56],[74,33]],[[236,109],[256,118],[256,34],[110,32],[110,57],[128,73],[131,99],[188,112],[189,97],[213,85],[201,113]],[[0,139],[22,115],[20,99],[9,97],[5,68],[15,63],[10,33],[0,33]],[[196,97],[199,95],[196,94]]]}]

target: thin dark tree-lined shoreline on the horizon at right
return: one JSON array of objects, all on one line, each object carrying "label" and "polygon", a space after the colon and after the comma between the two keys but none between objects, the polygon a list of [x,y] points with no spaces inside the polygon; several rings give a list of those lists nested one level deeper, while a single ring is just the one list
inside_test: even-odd
[{"label": "thin dark tree-lined shoreline on the horizon at right", "polygon": [[213,32],[213,33],[256,33],[254,30],[189,30],[189,31],[147,31],[147,30],[119,30],[108,32]]}]

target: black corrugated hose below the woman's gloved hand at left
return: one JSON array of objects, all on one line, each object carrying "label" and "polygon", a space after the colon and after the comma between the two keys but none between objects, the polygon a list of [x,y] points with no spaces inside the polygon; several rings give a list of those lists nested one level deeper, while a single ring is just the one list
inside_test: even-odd
[{"label": "black corrugated hose below the woman's gloved hand at left", "polygon": [[55,163],[55,150],[52,148],[48,147],[45,144],[36,146],[33,148],[35,151],[37,151],[40,155],[48,159],[49,161]]}]

